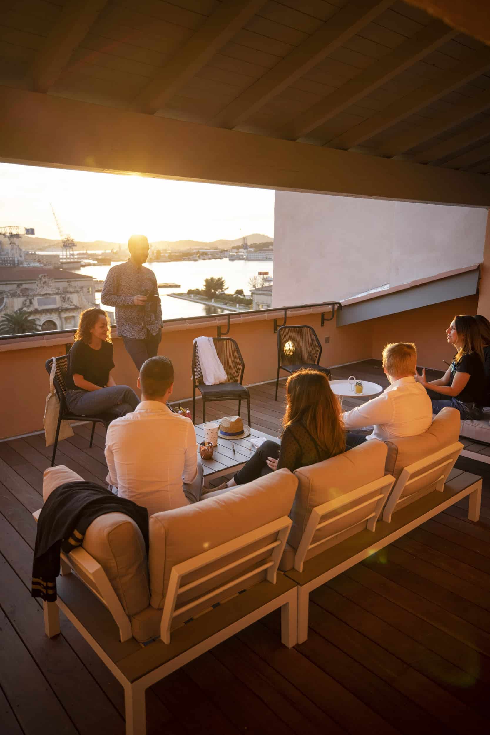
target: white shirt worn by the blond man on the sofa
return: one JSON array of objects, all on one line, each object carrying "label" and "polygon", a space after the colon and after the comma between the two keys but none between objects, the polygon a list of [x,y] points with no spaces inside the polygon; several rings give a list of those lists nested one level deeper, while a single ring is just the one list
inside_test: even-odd
[{"label": "white shirt worn by the blond man on the sofa", "polygon": [[400,437],[415,437],[432,423],[432,403],[425,388],[414,378],[400,378],[362,406],[344,414],[345,429],[374,426],[367,439],[382,442]]}]

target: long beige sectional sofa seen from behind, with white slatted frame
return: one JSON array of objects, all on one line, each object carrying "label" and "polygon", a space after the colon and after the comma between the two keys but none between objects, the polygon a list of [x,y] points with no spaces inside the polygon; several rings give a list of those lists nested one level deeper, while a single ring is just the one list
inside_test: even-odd
[{"label": "long beige sectional sofa seen from behind, with white slatted frame", "polygon": [[[46,632],[60,630],[58,605],[123,684],[126,735],[144,735],[147,686],[278,607],[285,645],[303,642],[312,589],[466,495],[478,520],[481,478],[447,482],[459,428],[458,412],[444,409],[419,437],[371,440],[154,514],[149,559],[129,517],[101,516],[62,559],[68,577],[58,603],[44,603]],[[43,498],[74,479],[49,468]]]}]

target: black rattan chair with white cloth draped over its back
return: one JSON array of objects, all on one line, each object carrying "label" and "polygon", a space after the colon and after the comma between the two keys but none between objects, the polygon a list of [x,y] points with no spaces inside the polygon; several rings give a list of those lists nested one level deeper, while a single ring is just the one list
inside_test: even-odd
[{"label": "black rattan chair with white cloth draped over its back", "polygon": [[197,388],[203,397],[203,423],[206,422],[206,401],[230,401],[233,398],[238,399],[238,415],[242,400],[246,399],[248,407],[248,426],[250,426],[250,393],[248,388],[242,386],[243,372],[245,370],[245,362],[243,362],[242,353],[235,340],[230,337],[213,337],[217,356],[220,358],[221,365],[226,372],[226,383],[218,383],[217,385],[205,385],[203,383],[203,373],[199,363],[199,354],[196,343],[192,350],[192,421],[195,423],[195,389]]}]

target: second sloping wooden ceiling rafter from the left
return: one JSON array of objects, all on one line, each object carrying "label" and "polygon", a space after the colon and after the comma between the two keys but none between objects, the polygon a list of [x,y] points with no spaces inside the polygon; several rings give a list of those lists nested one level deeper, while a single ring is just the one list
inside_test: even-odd
[{"label": "second sloping wooden ceiling rafter from the left", "polygon": [[134,100],[134,110],[154,115],[264,5],[264,0],[224,0]]}]

